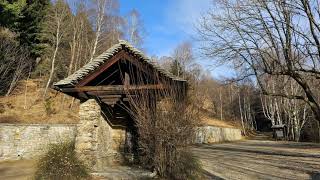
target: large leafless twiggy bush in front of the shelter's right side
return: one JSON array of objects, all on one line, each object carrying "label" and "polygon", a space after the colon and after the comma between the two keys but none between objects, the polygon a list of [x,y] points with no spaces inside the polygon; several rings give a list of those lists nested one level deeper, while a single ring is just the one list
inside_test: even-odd
[{"label": "large leafless twiggy bush in front of the shelter's right side", "polygon": [[[191,104],[164,99],[155,112],[139,108],[139,163],[168,179],[199,179],[202,167],[188,149],[193,140],[197,112]],[[148,115],[148,116],[146,116]]]}]

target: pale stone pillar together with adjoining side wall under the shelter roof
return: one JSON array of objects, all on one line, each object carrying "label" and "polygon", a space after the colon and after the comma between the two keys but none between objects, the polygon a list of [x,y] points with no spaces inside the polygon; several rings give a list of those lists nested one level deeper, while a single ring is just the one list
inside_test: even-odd
[{"label": "pale stone pillar together with adjoining side wall under the shelter roof", "polygon": [[80,159],[92,171],[103,171],[111,165],[123,163],[125,127],[112,124],[94,99],[80,104],[75,149]]}]

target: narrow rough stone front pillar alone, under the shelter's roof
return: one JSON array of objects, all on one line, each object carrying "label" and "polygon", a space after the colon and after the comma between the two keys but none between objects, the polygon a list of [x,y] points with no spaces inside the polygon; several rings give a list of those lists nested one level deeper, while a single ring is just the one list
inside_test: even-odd
[{"label": "narrow rough stone front pillar alone, under the shelter's roof", "polygon": [[80,122],[77,127],[77,137],[75,150],[79,158],[85,164],[97,171],[97,149],[98,149],[98,127],[101,117],[100,105],[94,99],[89,99],[80,104],[79,109]]}]

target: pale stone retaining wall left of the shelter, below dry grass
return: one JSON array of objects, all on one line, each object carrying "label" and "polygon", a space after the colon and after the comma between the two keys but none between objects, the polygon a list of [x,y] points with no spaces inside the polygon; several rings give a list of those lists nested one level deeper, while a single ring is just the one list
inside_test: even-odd
[{"label": "pale stone retaining wall left of the shelter, below dry grass", "polygon": [[0,160],[31,159],[49,144],[74,140],[76,125],[0,124]]}]

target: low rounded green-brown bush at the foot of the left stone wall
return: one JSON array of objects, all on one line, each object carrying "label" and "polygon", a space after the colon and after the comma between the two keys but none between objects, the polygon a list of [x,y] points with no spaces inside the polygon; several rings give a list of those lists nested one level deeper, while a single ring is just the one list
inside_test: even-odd
[{"label": "low rounded green-brown bush at the foot of the left stone wall", "polygon": [[77,158],[74,148],[74,142],[50,145],[48,152],[38,161],[35,179],[89,179],[88,169]]}]

